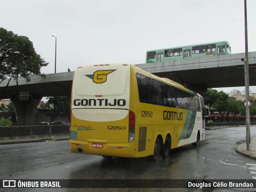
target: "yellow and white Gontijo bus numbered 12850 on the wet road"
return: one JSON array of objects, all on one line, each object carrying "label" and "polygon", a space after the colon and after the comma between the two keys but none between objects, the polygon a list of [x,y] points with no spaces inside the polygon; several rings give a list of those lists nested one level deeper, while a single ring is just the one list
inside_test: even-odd
[{"label": "yellow and white Gontijo bus numbered 12850 on the wet road", "polygon": [[167,158],[204,140],[202,96],[131,64],[78,67],[70,113],[70,151],[103,157]]}]

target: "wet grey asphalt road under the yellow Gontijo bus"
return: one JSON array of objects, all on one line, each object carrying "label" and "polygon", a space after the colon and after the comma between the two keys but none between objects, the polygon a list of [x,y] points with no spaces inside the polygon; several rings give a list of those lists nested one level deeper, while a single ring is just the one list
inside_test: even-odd
[{"label": "wet grey asphalt road under the yellow Gontijo bus", "polygon": [[[169,158],[149,162],[147,158],[104,159],[73,154],[69,141],[0,146],[0,179],[252,179],[246,163],[255,160],[236,154],[245,140],[245,127],[206,131],[195,147],[171,150]],[[256,127],[251,127],[256,137]],[[1,190],[1,189],[0,189]],[[2,189],[3,190],[3,189]],[[7,191],[7,190],[4,190]],[[224,191],[230,189],[8,189],[8,191]],[[234,191],[256,191],[236,189]]]}]

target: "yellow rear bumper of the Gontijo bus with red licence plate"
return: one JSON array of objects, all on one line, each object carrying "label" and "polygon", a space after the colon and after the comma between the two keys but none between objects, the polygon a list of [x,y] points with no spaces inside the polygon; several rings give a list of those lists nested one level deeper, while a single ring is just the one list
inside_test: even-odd
[{"label": "yellow rear bumper of the Gontijo bus with red licence plate", "polygon": [[134,141],[131,143],[94,143],[70,139],[70,152],[118,157],[136,157]]}]

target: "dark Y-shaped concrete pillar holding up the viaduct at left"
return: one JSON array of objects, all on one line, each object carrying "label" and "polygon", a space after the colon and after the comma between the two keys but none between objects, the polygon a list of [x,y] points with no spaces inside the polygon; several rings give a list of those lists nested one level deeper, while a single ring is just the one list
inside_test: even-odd
[{"label": "dark Y-shaped concrete pillar holding up the viaduct at left", "polygon": [[42,97],[30,95],[27,101],[20,101],[19,96],[9,96],[14,104],[17,123],[38,123],[35,119],[36,107]]}]

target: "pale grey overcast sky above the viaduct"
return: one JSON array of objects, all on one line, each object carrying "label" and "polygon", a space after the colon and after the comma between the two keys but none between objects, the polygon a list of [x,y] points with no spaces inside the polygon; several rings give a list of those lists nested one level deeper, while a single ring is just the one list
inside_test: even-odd
[{"label": "pale grey overcast sky above the viaduct", "polygon": [[[0,0],[0,27],[27,36],[42,73],[80,65],[145,63],[146,50],[228,41],[245,52],[244,0]],[[247,0],[248,49],[256,51],[256,0]],[[244,90],[244,87],[222,89]],[[256,87],[250,87],[256,93]],[[220,89],[218,89],[220,91]]]}]

